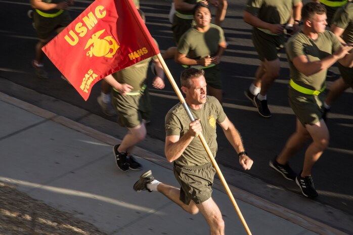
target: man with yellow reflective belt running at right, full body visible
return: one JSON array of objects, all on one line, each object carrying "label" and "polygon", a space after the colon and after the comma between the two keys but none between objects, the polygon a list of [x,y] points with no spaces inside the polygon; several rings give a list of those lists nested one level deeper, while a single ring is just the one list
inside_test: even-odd
[{"label": "man with yellow reflective belt running at right, full body visible", "polygon": [[[296,131],[289,137],[284,149],[270,166],[285,178],[295,180],[305,197],[315,198],[312,169],[329,144],[329,131],[323,116],[323,101],[327,69],[336,61],[352,63],[352,46],[342,45],[338,38],[326,30],[326,9],[319,3],[310,2],[302,8],[303,27],[287,43],[290,66],[288,89],[289,104],[297,117]],[[295,176],[288,161],[313,139],[304,156],[303,168]]]}]

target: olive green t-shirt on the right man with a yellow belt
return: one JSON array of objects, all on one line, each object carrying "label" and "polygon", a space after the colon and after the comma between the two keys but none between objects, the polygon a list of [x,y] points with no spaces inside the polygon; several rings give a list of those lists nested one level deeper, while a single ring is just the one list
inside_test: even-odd
[{"label": "olive green t-shirt on the right man with a yellow belt", "polygon": [[302,31],[294,34],[288,40],[286,46],[291,79],[305,88],[320,90],[325,83],[327,69],[311,76],[305,76],[295,68],[292,60],[295,57],[304,55],[308,58],[308,61],[320,61],[332,55],[333,52],[339,49],[340,45],[341,43],[336,35],[328,30],[325,30],[324,33],[319,33],[319,37],[316,40],[312,40]]}]

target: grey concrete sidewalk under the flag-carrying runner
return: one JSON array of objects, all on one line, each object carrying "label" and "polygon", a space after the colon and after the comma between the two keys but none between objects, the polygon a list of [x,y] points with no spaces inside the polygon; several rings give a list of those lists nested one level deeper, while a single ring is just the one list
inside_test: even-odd
[{"label": "grey concrete sidewalk under the flag-carrying runner", "polygon": [[[164,157],[137,148],[144,169],[122,172],[112,154],[112,145],[120,140],[4,93],[0,93],[0,109],[0,181],[15,184],[30,197],[73,213],[108,234],[209,234],[201,214],[186,213],[158,192],[133,190],[148,169],[159,181],[178,185]],[[246,194],[235,187],[231,190],[236,200]],[[213,198],[223,213],[226,234],[247,234],[217,180]],[[237,203],[254,235],[345,234],[324,224],[300,226],[250,203]]]}]

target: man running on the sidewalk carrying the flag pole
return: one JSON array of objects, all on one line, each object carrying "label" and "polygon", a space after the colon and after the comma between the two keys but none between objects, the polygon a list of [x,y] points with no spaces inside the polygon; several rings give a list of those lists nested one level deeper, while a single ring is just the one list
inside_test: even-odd
[{"label": "man running on the sidewalk carrying the flag pole", "polygon": [[169,162],[173,162],[174,176],[181,185],[180,189],[154,179],[149,170],[140,176],[134,184],[134,190],[158,191],[190,214],[200,211],[210,226],[210,234],[224,235],[222,214],[211,197],[215,170],[197,136],[202,131],[210,151],[215,156],[218,123],[238,153],[243,169],[249,170],[253,161],[247,156],[237,129],[224,113],[218,100],[206,96],[207,84],[203,74],[203,70],[189,68],[181,75],[186,104],[196,120],[190,122],[181,103],[171,108],[165,117],[165,156]]}]

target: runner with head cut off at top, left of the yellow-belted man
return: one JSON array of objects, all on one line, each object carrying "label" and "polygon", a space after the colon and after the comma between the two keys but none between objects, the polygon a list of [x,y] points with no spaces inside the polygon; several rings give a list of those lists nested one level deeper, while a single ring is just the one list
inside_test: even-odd
[{"label": "runner with head cut off at top, left of the yellow-belted man", "polygon": [[[262,117],[272,116],[267,93],[280,75],[279,53],[286,39],[285,25],[292,24],[293,33],[299,29],[301,7],[301,0],[248,0],[245,7],[244,21],[253,26],[252,42],[261,65],[244,95],[257,107]],[[292,12],[294,22],[291,22]]]}]

